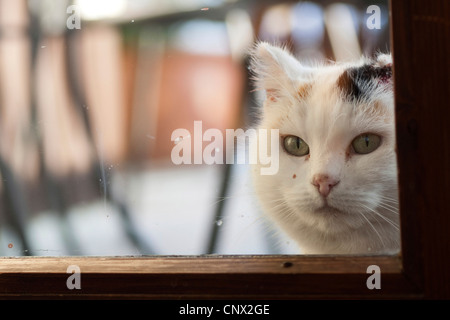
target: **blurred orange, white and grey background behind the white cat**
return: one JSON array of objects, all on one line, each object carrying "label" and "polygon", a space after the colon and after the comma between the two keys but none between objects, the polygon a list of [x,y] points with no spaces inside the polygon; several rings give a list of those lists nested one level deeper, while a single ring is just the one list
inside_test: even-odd
[{"label": "blurred orange, white and grey background behind the white cat", "polygon": [[388,3],[0,0],[0,256],[298,253],[246,165],[170,157],[194,121],[251,126],[256,40],[387,52]]}]

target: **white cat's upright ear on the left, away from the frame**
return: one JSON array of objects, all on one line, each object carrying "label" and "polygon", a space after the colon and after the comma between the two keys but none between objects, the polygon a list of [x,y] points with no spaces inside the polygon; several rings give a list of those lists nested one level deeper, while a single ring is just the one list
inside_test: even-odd
[{"label": "white cat's upright ear on the left, away from the frame", "polygon": [[280,97],[295,91],[295,80],[303,67],[286,49],[258,43],[251,53],[251,71],[256,90],[265,90],[267,99],[278,101]]}]

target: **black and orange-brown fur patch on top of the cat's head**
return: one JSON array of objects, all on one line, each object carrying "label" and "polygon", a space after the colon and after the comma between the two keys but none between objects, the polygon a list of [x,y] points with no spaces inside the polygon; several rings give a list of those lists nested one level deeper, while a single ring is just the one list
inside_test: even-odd
[{"label": "black and orange-brown fur patch on top of the cat's head", "polygon": [[337,86],[350,101],[368,99],[374,90],[390,82],[392,65],[382,67],[365,64],[360,67],[348,68],[337,80]]}]

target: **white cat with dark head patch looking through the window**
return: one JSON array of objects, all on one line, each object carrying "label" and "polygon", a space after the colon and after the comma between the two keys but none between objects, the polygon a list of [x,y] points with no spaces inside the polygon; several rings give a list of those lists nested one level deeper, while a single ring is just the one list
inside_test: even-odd
[{"label": "white cat with dark head patch looking through the window", "polygon": [[391,55],[306,66],[260,42],[250,61],[256,128],[280,136],[279,171],[252,165],[262,210],[303,254],[398,253]]}]

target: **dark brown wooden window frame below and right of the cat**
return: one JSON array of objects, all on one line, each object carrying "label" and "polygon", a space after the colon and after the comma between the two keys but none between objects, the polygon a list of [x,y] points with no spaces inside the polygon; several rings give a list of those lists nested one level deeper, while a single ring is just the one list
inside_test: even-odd
[{"label": "dark brown wooden window frame below and right of the cat", "polygon": [[[450,298],[446,0],[392,0],[402,251],[399,256],[149,256],[0,259],[5,298]],[[67,267],[81,270],[69,290]],[[368,289],[367,267],[381,289]]]}]

